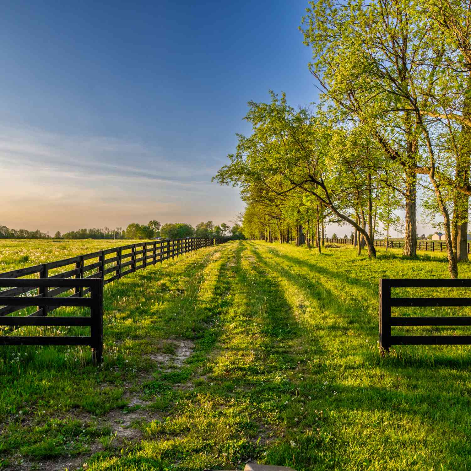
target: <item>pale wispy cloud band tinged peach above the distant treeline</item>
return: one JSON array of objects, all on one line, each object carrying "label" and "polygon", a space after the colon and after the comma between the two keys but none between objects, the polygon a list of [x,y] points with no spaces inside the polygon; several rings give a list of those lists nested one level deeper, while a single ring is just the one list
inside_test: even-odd
[{"label": "pale wispy cloud band tinged peach above the distant treeline", "polygon": [[240,210],[233,190],[211,184],[218,166],[174,162],[126,139],[0,126],[0,167],[0,222],[12,227],[196,223]]}]

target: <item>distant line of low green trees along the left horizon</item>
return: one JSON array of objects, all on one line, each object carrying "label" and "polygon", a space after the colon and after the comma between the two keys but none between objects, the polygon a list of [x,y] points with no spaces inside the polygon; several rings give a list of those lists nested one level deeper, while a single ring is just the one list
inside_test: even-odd
[{"label": "distant line of low green trees along the left horizon", "polygon": [[[55,239],[153,239],[162,237],[164,239],[181,239],[184,237],[227,237],[231,236],[235,239],[243,239],[241,226],[235,224],[229,227],[226,223],[215,226],[212,221],[200,222],[196,227],[191,224],[177,222],[162,224],[153,219],[148,224],[139,224],[133,222],[125,229],[116,227],[110,229],[90,228],[79,229],[77,231],[66,232],[61,234],[59,231],[54,235]],[[9,229],[6,226],[0,226],[1,239],[47,239],[52,238],[49,233],[39,230],[28,231],[26,229]]]}]

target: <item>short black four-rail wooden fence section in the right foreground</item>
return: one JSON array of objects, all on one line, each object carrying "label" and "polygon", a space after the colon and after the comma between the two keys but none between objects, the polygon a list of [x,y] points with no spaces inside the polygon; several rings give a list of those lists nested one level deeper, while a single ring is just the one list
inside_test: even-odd
[{"label": "short black four-rail wooden fence section in the right foreground", "polygon": [[391,307],[471,306],[471,298],[391,298],[391,288],[471,288],[471,279],[381,279],[380,350],[391,345],[469,345],[471,335],[391,335],[392,326],[471,325],[471,317],[391,317]]}]

